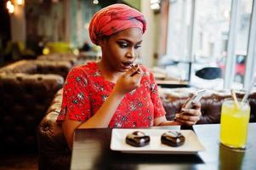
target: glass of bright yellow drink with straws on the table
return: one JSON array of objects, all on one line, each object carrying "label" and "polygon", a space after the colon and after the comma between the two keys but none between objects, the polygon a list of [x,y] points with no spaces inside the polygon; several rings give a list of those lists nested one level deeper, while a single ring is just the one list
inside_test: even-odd
[{"label": "glass of bright yellow drink with straws on the table", "polygon": [[220,117],[220,143],[231,148],[245,149],[247,125],[250,117],[250,105],[226,99],[222,104]]}]

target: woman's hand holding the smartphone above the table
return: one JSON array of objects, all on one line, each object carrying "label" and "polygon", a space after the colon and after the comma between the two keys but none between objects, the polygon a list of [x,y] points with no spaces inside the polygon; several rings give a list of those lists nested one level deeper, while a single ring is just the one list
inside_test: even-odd
[{"label": "woman's hand holding the smartphone above the table", "polygon": [[181,112],[176,114],[176,122],[191,126],[200,120],[200,116],[202,116],[201,104],[198,102],[192,103],[192,105],[193,109],[182,108]]}]

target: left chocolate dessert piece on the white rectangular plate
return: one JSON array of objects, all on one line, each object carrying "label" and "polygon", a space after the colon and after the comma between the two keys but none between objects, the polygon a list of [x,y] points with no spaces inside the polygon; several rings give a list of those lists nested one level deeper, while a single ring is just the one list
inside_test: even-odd
[{"label": "left chocolate dessert piece on the white rectangular plate", "polygon": [[145,133],[140,131],[135,131],[134,133],[128,133],[125,138],[127,144],[130,144],[135,147],[142,147],[147,144],[150,144],[151,138]]}]

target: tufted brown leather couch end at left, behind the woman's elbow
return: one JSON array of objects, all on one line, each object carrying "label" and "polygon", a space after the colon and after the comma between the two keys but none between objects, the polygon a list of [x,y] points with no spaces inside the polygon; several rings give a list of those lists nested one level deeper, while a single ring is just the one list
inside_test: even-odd
[{"label": "tufted brown leather couch end at left, behind the woman's elbow", "polygon": [[61,124],[56,122],[60,113],[62,89],[55,95],[47,114],[37,127],[38,141],[38,168],[69,169],[71,163],[71,150],[65,142]]}]

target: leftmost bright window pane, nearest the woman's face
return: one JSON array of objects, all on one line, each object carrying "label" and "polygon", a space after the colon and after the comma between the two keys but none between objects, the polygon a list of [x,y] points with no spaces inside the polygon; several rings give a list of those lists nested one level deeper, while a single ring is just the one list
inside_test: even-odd
[{"label": "leftmost bright window pane, nearest the woman's face", "polygon": [[167,53],[158,61],[168,78],[187,81],[189,78],[189,47],[191,0],[169,2]]}]

